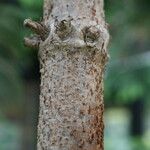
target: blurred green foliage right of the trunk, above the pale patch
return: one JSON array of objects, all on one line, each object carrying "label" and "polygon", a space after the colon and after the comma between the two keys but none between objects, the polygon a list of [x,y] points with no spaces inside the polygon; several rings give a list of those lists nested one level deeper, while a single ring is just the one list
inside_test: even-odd
[{"label": "blurred green foliage right of the trunk, above the pale patch", "polygon": [[111,59],[105,80],[107,103],[127,104],[149,100],[149,0],[107,0]]}]

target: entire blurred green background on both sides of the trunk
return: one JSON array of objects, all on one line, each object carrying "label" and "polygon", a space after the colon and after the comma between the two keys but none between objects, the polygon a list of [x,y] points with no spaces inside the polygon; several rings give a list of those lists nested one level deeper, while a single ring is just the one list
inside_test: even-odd
[{"label": "entire blurred green background on both sides of the trunk", "polygon": [[[150,1],[105,0],[105,13],[105,150],[149,150]],[[41,16],[42,0],[0,0],[0,150],[36,150],[39,64],[22,24]]]}]

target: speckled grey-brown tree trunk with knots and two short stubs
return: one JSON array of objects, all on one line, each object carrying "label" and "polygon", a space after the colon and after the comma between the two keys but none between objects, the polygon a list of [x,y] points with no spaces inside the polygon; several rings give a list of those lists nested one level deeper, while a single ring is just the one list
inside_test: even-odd
[{"label": "speckled grey-brown tree trunk with knots and two short stubs", "polygon": [[103,0],[44,0],[43,21],[24,22],[39,48],[38,150],[103,150],[103,74],[109,34]]}]

